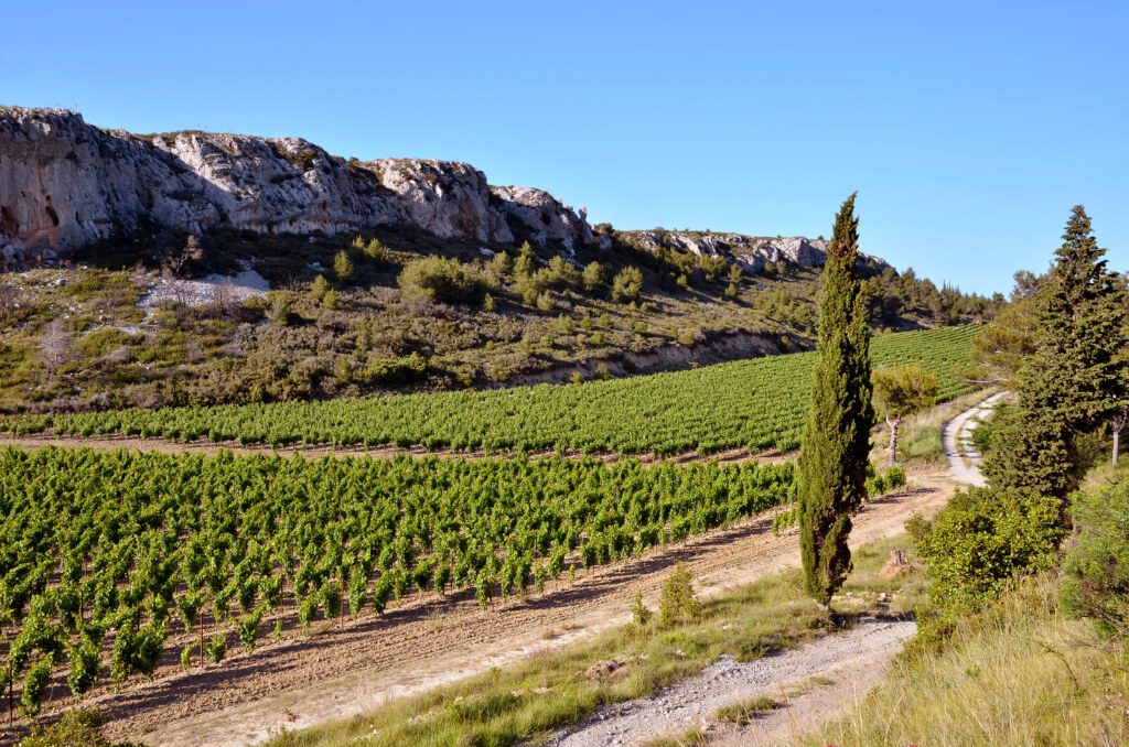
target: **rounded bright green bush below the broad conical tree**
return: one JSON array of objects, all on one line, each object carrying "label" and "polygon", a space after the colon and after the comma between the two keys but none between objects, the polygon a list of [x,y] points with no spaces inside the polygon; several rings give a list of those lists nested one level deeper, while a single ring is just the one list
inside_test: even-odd
[{"label": "rounded bright green bush below the broad conical tree", "polygon": [[1024,573],[1053,566],[1064,529],[1053,498],[971,487],[931,522],[914,522],[911,534],[926,561],[930,601],[959,613],[980,608]]}]

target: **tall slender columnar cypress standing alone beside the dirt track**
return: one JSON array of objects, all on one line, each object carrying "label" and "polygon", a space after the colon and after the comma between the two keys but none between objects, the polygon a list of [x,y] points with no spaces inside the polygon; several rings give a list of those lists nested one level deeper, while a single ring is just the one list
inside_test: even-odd
[{"label": "tall slender columnar cypress standing alone beside the dirt track", "polygon": [[828,605],[850,571],[850,515],[866,498],[874,422],[854,194],[835,217],[819,302],[820,359],[798,464],[799,547],[807,594]]}]

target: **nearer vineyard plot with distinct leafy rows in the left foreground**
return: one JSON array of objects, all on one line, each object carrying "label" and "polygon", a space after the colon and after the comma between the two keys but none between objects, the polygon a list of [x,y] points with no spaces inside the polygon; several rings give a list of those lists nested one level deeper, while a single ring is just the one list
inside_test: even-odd
[{"label": "nearer vineyard plot with distinct leafy rows in the left foreground", "polygon": [[[253,649],[410,592],[552,579],[791,499],[785,465],[0,451],[0,631],[28,715],[49,682]],[[170,636],[174,640],[169,640]],[[175,642],[174,644],[174,641]]]}]

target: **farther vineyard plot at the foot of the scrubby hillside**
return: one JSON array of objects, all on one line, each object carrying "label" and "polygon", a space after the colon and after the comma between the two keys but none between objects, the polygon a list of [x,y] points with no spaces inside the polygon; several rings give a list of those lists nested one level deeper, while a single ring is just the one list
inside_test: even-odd
[{"label": "farther vineyard plot at the foot of the scrubby hillside", "polygon": [[[877,366],[916,362],[936,374],[944,401],[971,390],[955,371],[968,361],[973,333],[963,326],[884,335],[870,350]],[[814,361],[815,353],[796,353],[566,386],[24,416],[0,421],[0,430],[504,452],[788,450],[799,441]]]}]

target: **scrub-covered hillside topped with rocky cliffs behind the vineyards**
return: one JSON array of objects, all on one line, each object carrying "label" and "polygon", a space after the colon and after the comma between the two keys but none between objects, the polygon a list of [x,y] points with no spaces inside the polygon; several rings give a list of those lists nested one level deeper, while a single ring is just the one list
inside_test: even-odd
[{"label": "scrub-covered hillside topped with rocky cliffs behind the vineyards", "polygon": [[[0,108],[0,412],[592,379],[812,344],[822,239],[593,228],[465,164],[63,111]],[[863,265],[876,328],[997,306]]]}]

